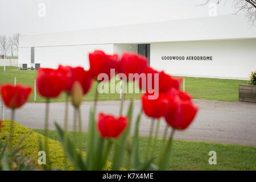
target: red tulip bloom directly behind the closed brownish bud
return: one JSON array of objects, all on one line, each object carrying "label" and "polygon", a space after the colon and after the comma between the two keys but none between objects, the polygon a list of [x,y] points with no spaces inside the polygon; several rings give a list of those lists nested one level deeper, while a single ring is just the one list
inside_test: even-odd
[{"label": "red tulip bloom directly behind the closed brownish bud", "polygon": [[92,77],[90,76],[89,71],[85,71],[82,67],[73,68],[70,66],[63,67],[63,65],[59,65],[58,70],[66,74],[67,84],[65,85],[64,90],[68,93],[71,92],[75,81],[80,82],[84,94],[86,94],[92,86]]}]

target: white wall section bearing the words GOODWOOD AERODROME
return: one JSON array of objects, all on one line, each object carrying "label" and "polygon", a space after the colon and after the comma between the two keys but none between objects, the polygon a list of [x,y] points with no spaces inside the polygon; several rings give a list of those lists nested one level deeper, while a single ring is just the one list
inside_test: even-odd
[{"label": "white wall section bearing the words GOODWOOD AERODROME", "polygon": [[[256,39],[150,44],[150,65],[171,75],[248,78],[256,70]],[[162,60],[162,56],[212,56],[212,61]]]}]

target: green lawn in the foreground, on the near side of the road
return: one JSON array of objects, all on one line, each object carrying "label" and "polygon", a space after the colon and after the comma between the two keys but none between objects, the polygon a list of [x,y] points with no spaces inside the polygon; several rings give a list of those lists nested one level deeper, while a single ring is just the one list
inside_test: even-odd
[{"label": "green lawn in the foreground, on the near side of the road", "polygon": [[[44,130],[35,129],[36,132],[44,134]],[[72,138],[72,132],[68,133]],[[49,131],[49,138],[58,140],[56,131]],[[88,134],[82,133],[83,149],[86,148]],[[160,144],[163,139],[157,139],[155,157],[158,159],[161,151]],[[177,143],[176,143],[177,142]],[[147,137],[140,137],[140,154],[144,159],[147,148]],[[216,151],[217,164],[210,165],[209,151]],[[171,152],[171,170],[256,170],[256,147],[239,146],[233,144],[220,144],[209,142],[193,142],[185,140],[174,140]],[[109,161],[112,162],[113,151],[110,152]],[[127,156],[123,167],[127,167]]]}]

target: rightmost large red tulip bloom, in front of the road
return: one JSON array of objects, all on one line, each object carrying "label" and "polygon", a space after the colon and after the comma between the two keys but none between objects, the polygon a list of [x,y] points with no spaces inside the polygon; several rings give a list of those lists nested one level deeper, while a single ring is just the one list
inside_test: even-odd
[{"label": "rightmost large red tulip bloom, in front of the road", "polygon": [[184,130],[195,118],[198,107],[193,104],[191,96],[187,93],[171,89],[168,94],[170,100],[164,118],[174,129]]}]

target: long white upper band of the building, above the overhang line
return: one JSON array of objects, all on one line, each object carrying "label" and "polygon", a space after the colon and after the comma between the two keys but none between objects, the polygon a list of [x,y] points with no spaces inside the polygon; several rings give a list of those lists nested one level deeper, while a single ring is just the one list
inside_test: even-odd
[{"label": "long white upper band of the building, above the overhang line", "polygon": [[247,39],[256,38],[255,32],[256,25],[251,26],[247,18],[242,15],[208,16],[53,34],[24,35],[19,38],[19,47]]}]

